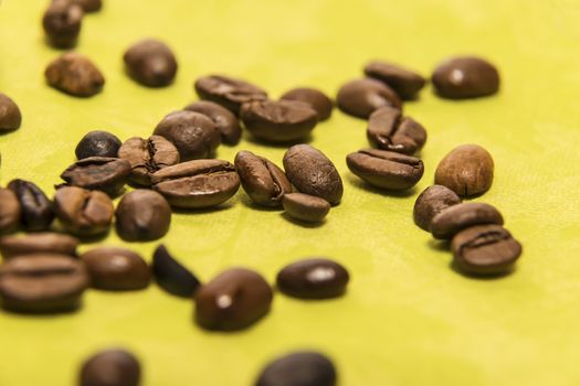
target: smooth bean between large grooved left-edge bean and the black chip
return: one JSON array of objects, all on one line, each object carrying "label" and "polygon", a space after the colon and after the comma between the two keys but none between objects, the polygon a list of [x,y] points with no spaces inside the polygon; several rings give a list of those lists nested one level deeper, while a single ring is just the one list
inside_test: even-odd
[{"label": "smooth bean between large grooved left-edge bean and the black chip", "polygon": [[128,291],[149,286],[149,267],[133,250],[98,247],[81,255],[81,260],[86,265],[93,288]]}]

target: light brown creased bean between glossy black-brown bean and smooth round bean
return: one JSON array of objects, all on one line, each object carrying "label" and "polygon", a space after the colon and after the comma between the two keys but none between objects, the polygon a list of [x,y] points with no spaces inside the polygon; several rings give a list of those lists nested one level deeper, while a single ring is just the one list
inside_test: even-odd
[{"label": "light brown creased bean between glossy black-brown bean and smooth round bean", "polygon": [[64,186],[54,194],[54,212],[66,232],[95,236],[108,230],[115,207],[103,192]]}]

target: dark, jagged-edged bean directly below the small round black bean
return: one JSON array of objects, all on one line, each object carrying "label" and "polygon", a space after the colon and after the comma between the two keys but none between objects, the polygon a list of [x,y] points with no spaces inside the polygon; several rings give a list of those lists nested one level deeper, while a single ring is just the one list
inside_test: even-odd
[{"label": "dark, jagged-edged bean directly below the small round black bean", "polygon": [[108,157],[89,157],[68,167],[61,179],[66,184],[117,195],[129,178],[130,163]]}]

